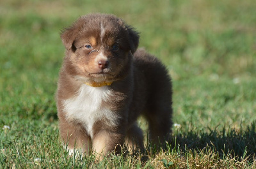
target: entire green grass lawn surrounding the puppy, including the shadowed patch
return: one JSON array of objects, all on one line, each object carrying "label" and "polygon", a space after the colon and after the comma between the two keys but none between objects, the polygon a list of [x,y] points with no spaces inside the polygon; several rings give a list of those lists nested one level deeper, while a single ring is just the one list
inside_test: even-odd
[{"label": "entire green grass lawn surrounding the puppy, including the shadowed patch", "polygon": [[[0,128],[10,129],[0,131],[0,168],[256,168],[255,8],[253,0],[1,1]],[[172,75],[180,125],[166,151],[147,145],[146,161],[69,157],[58,140],[60,31],[92,12],[136,27],[140,47]]]}]

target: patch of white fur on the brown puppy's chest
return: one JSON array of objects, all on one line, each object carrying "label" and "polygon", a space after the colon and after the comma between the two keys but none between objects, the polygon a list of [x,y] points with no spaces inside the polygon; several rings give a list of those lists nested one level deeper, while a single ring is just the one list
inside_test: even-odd
[{"label": "patch of white fur on the brown puppy's chest", "polygon": [[84,125],[88,135],[93,137],[93,124],[100,119],[108,119],[109,125],[116,124],[117,115],[102,105],[111,96],[108,86],[91,87],[81,85],[76,96],[63,101],[67,121],[77,121]]}]

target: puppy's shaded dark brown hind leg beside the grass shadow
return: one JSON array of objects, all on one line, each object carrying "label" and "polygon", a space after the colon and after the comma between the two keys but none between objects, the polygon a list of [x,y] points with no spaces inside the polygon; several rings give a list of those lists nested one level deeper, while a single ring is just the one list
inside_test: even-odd
[{"label": "puppy's shaded dark brown hind leg beside the grass shadow", "polygon": [[148,120],[152,143],[163,145],[172,133],[172,82],[165,70],[159,70],[147,102],[144,116]]}]

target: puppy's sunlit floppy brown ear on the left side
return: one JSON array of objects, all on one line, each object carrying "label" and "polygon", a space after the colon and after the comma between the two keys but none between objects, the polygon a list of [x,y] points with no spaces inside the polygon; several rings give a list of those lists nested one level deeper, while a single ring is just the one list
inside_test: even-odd
[{"label": "puppy's sunlit floppy brown ear on the left side", "polygon": [[61,40],[67,50],[76,50],[74,47],[74,41],[76,40],[77,34],[83,29],[84,20],[79,18],[72,26],[64,29],[61,33]]}]

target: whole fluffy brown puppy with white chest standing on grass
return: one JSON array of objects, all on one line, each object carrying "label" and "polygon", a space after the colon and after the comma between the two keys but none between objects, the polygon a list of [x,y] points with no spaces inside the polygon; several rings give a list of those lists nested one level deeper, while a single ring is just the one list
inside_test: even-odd
[{"label": "whole fluffy brown puppy with white chest standing on grass", "polygon": [[163,143],[172,127],[172,84],[156,57],[138,49],[139,35],[114,15],[80,17],[61,34],[66,56],[57,91],[60,136],[68,149],[143,149],[136,123],[148,121],[150,140]]}]

